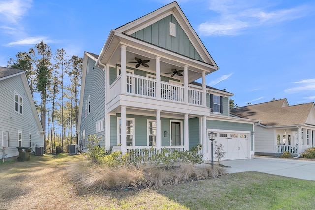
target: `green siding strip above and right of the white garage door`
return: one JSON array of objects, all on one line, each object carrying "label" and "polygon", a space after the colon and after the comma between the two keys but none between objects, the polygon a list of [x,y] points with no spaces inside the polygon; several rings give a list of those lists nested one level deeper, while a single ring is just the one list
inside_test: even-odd
[{"label": "green siding strip above and right of the white garage door", "polygon": [[[207,120],[207,129],[214,130],[235,130],[235,131],[247,131],[252,133],[253,124],[247,123],[237,123],[237,122],[227,122],[218,120]],[[253,146],[253,136],[251,135],[251,151],[254,150]]]}]

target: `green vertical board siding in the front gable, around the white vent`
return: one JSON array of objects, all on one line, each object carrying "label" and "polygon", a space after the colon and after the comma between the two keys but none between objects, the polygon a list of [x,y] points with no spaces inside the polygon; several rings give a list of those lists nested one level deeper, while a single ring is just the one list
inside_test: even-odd
[{"label": "green vertical board siding in the front gable, around the white vent", "polygon": [[[170,22],[175,24],[176,37],[170,35]],[[189,58],[203,61],[173,15],[169,15],[144,29],[131,34],[131,36]]]}]

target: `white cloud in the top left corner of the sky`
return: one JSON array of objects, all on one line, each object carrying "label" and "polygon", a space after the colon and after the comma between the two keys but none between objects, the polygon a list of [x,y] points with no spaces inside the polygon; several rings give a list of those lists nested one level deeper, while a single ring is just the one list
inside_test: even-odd
[{"label": "white cloud in the top left corner of the sky", "polygon": [[0,20],[16,24],[32,7],[32,0],[6,0],[0,2]]}]

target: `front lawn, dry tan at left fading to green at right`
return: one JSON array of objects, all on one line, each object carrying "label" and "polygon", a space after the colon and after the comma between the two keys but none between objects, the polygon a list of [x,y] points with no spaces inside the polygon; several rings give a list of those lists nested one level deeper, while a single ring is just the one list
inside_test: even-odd
[{"label": "front lawn, dry tan at left fading to green at right", "polygon": [[[67,176],[81,155],[31,156],[0,163],[0,209],[231,209],[315,208],[315,181],[242,172],[158,189],[84,189]],[[23,208],[24,209],[24,208]]]}]

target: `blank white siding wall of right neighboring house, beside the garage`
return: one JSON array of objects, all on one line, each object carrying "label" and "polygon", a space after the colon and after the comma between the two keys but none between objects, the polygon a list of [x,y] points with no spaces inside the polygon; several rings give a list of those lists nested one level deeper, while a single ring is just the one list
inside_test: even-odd
[{"label": "blank white siding wall of right neighboring house, beside the garage", "polygon": [[255,126],[255,152],[275,153],[274,130]]}]

